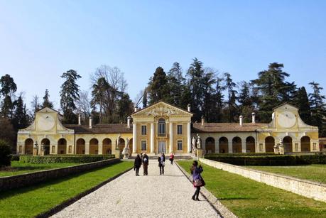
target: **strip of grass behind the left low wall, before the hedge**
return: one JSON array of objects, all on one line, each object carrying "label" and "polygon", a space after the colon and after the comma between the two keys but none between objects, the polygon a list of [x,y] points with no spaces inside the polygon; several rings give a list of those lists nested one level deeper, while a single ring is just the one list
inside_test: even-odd
[{"label": "strip of grass behind the left low wall, before the hedge", "polygon": [[21,163],[19,161],[11,161],[11,168],[0,170],[0,177],[63,168],[71,165],[78,165],[78,163]]}]

